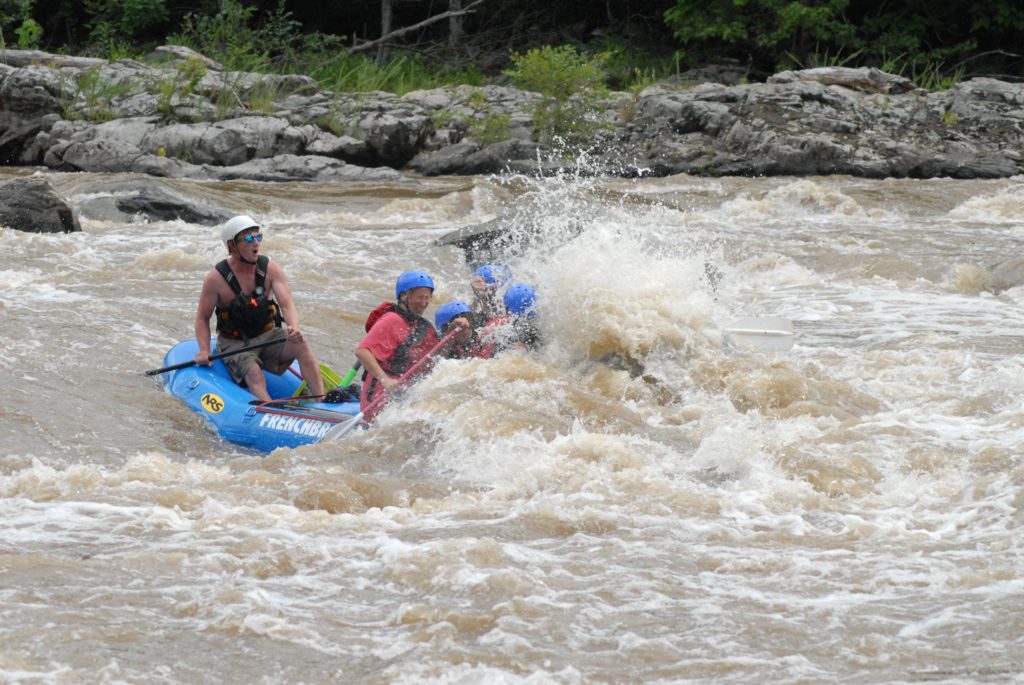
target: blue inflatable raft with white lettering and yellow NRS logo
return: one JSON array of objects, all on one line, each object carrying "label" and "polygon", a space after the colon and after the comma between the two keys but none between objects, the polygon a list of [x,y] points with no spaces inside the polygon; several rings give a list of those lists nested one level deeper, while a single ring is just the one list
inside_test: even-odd
[{"label": "blue inflatable raft with white lettering and yellow NRS logo", "polygon": [[[199,351],[195,340],[180,342],[167,352],[165,366],[191,361]],[[167,391],[206,419],[225,440],[259,452],[297,447],[319,440],[338,423],[359,412],[359,402],[337,404],[290,400],[302,384],[298,363],[281,376],[268,374],[266,388],[271,402],[251,403],[256,397],[236,383],[224,362],[189,366],[163,374]]]}]

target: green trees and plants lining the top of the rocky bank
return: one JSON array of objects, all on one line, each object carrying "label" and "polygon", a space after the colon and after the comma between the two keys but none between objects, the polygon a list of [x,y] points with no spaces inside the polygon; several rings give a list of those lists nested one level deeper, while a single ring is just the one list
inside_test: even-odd
[{"label": "green trees and plants lining the top of the rocky bank", "polygon": [[636,89],[727,63],[750,81],[877,67],[941,89],[979,75],[1024,79],[1022,36],[1017,0],[0,0],[0,50],[117,59],[173,43],[231,70],[399,94],[522,84],[542,58],[572,72],[555,88],[578,70],[588,85]]}]

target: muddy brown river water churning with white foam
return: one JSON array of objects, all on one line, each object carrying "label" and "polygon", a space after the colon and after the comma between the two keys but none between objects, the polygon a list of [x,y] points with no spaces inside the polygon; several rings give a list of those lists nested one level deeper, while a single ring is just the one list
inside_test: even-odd
[{"label": "muddy brown river water churning with white foam", "polygon": [[[257,457],[138,373],[190,337],[213,228],[0,233],[0,652],[23,655],[0,678],[1013,678],[1024,314],[951,277],[1012,253],[1012,185],[286,188],[264,251],[322,358],[350,362],[406,268],[468,298],[434,242],[504,212],[545,344],[441,361],[372,430]],[[794,348],[732,348],[737,316],[793,319]],[[34,628],[56,618],[81,637]]]}]

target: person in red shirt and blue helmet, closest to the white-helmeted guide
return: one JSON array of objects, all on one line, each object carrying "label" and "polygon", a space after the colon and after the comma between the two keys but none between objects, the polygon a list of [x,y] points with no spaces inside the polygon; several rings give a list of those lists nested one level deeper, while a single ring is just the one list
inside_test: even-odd
[{"label": "person in red shirt and blue helmet, closest to the white-helmeted guide", "polygon": [[366,370],[361,410],[366,411],[381,388],[396,390],[398,378],[437,344],[434,327],[423,317],[433,292],[429,274],[406,271],[395,282],[395,302],[385,302],[370,314],[367,335],[355,348],[355,358]]}]

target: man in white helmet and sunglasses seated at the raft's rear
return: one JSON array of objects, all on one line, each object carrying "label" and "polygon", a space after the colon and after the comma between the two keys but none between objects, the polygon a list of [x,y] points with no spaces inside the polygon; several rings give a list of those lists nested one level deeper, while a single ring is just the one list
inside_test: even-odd
[{"label": "man in white helmet and sunglasses seated at the raft's rear", "polygon": [[[236,216],[220,229],[227,259],[203,280],[196,310],[196,363],[210,365],[210,316],[217,318],[217,351],[270,340],[285,340],[249,352],[223,357],[234,381],[262,401],[269,401],[263,370],[283,374],[295,359],[314,395],[324,394],[324,380],[312,348],[299,329],[299,310],[292,300],[285,270],[259,254],[263,233],[249,216]],[[281,328],[282,323],[286,328]]]}]

